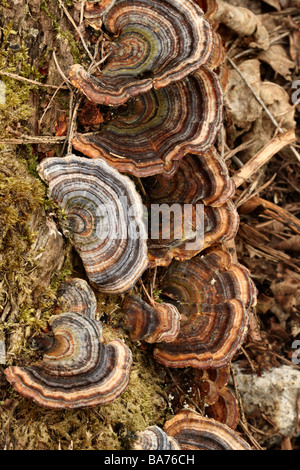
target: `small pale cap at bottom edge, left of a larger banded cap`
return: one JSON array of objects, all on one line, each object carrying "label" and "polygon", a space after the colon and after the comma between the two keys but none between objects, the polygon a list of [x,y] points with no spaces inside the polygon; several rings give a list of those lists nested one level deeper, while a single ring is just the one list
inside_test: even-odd
[{"label": "small pale cap at bottom edge, left of a larger banded cap", "polygon": [[133,450],[180,450],[178,442],[160,429],[149,426],[143,432],[137,433]]}]

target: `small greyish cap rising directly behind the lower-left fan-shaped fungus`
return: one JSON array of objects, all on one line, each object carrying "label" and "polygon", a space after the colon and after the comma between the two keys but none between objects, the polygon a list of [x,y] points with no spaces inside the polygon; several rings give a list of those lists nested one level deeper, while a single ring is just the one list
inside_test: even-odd
[{"label": "small greyish cap rising directly behind the lower-left fan-shaped fungus", "polygon": [[95,318],[97,300],[94,292],[83,279],[68,279],[61,285],[57,293],[55,313],[76,312]]}]

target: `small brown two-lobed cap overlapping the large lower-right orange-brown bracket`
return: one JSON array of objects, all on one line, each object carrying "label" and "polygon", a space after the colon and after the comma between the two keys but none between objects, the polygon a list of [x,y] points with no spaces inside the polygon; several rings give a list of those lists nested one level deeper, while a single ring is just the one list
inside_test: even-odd
[{"label": "small brown two-lobed cap overlapping the large lower-right orange-brown bracket", "polygon": [[169,342],[179,333],[180,313],[174,305],[154,302],[150,306],[142,299],[128,295],[122,310],[132,341]]}]

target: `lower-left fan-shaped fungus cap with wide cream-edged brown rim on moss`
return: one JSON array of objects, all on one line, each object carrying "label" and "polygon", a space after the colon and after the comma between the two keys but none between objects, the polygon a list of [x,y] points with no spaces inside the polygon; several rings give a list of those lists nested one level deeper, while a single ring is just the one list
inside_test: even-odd
[{"label": "lower-left fan-shaped fungus cap with wide cream-edged brown rim on moss", "polygon": [[103,405],[124,392],[132,356],[121,340],[103,344],[101,324],[75,312],[53,316],[50,326],[54,340],[42,361],[4,371],[21,395],[61,409]]}]

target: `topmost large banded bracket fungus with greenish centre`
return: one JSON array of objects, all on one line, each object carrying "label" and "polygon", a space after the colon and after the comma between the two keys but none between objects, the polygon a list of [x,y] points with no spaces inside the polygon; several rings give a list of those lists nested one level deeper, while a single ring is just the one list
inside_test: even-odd
[{"label": "topmost large banded bracket fungus with greenish centre", "polygon": [[116,106],[182,80],[205,65],[214,34],[193,0],[117,0],[103,23],[114,36],[101,77],[78,64],[71,83],[95,103]]}]

